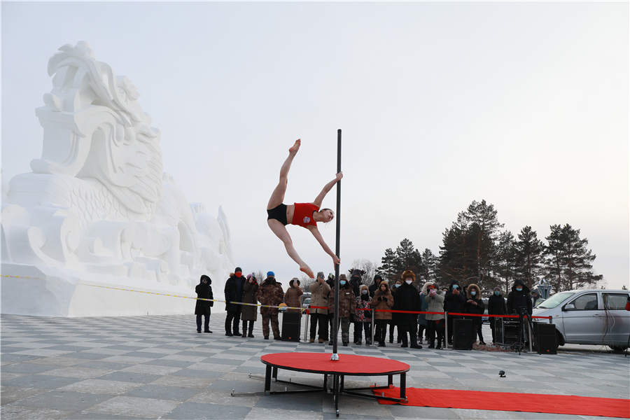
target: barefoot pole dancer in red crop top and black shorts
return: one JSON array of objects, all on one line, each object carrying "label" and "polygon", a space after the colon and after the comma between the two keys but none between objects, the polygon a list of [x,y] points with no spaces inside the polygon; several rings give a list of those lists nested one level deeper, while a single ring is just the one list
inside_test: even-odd
[{"label": "barefoot pole dancer in red crop top and black shorts", "polygon": [[286,186],[288,183],[288,172],[291,167],[291,162],[293,162],[293,158],[295,158],[297,151],[300,149],[300,144],[300,139],[297,139],[295,144],[293,144],[293,146],[289,149],[288,158],[286,158],[280,168],[280,181],[267,203],[267,224],[276,237],[279,237],[284,244],[286,253],[288,253],[290,258],[297,262],[297,265],[300,266],[300,271],[306,273],[307,276],[309,276],[309,279],[314,279],[315,276],[313,274],[313,270],[311,270],[307,263],[300,258],[300,255],[297,255],[297,251],[293,248],[293,241],[286,230],[286,225],[291,224],[307,228],[311,234],[313,234],[315,239],[317,239],[325,253],[332,257],[332,262],[339,264],[339,258],[328,247],[323,240],[323,237],[321,237],[321,233],[317,229],[317,222],[328,223],[335,217],[332,210],[320,209],[321,202],[326,194],[328,194],[328,191],[330,191],[332,186],[341,181],[344,175],[339,172],[339,174],[335,176],[335,179],[324,186],[321,193],[315,197],[314,202],[293,203],[288,205],[283,204],[284,193],[286,193]]}]

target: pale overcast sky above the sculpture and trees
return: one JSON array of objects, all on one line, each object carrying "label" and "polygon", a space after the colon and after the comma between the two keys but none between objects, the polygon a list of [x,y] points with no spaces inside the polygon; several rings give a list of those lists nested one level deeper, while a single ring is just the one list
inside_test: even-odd
[{"label": "pale overcast sky above the sculpture and trees", "polygon": [[[297,138],[285,202],[334,178],[341,269],[379,262],[486,200],[516,236],[580,229],[610,288],[629,272],[629,5],[617,3],[8,3],[2,173],[41,156],[48,59],[87,41],[132,80],[189,202],[223,206],[244,272],[300,276],[266,205]],[[324,207],[335,209],[335,190]],[[317,271],[332,260],[288,227]],[[335,224],[321,225],[334,249]]]}]

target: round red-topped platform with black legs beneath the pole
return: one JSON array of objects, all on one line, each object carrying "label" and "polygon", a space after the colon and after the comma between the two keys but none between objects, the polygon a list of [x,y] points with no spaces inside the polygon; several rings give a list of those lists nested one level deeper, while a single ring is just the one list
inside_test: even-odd
[{"label": "round red-topped platform with black legs beneath the pole", "polygon": [[[409,371],[407,363],[386,358],[371,356],[356,356],[353,354],[339,354],[339,360],[330,360],[330,353],[271,353],[260,357],[262,363],[267,365],[265,372],[265,394],[273,393],[304,393],[304,392],[328,392],[328,375],[332,375],[332,395],[335,401],[335,409],[339,416],[339,394],[346,393],[363,398],[379,398],[394,402],[404,402],[406,373]],[[297,384],[292,381],[281,381],[278,379],[278,370],[295,370],[297,372],[309,372],[323,374],[323,386],[313,386],[307,384]],[[393,395],[374,395],[377,389],[390,388],[393,384],[393,375],[400,374],[400,398]],[[387,376],[386,386],[367,386],[365,388],[344,388],[344,377],[346,376]],[[309,388],[300,391],[272,391],[272,377],[276,382],[292,384]],[[357,391],[370,391],[369,394]]]}]

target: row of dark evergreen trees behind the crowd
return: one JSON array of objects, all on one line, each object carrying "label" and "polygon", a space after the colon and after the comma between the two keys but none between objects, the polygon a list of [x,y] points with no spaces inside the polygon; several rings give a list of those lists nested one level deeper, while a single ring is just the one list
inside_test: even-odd
[{"label": "row of dark evergreen trees behind the crowd", "polygon": [[596,255],[587,248],[588,240],[571,225],[551,225],[546,244],[531,226],[521,229],[518,237],[502,230],[493,204],[473,201],[457,215],[442,234],[439,255],[429,248],[422,253],[405,238],[393,250],[387,248],[378,271],[395,281],[405,269],[411,269],[419,281],[438,281],[447,286],[452,280],[477,283],[479,288],[500,286],[508,293],[515,279],[535,288],[547,279],[553,293],[587,286],[603,279],[593,273]]}]

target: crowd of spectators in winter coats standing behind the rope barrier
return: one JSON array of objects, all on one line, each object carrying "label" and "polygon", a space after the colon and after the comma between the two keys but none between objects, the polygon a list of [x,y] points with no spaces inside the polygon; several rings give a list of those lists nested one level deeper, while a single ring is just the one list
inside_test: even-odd
[{"label": "crowd of spectators in winter coats standing behind the rope barrier", "polygon": [[[361,283],[365,272],[352,269],[350,279],[346,274],[339,276],[339,328],[342,332],[342,345],[350,342],[350,325],[353,325],[353,343],[372,342],[385,346],[387,328],[390,343],[396,342],[401,347],[421,349],[424,342],[430,349],[441,349],[445,344],[453,343],[453,322],[457,318],[472,319],[472,328],[478,337],[479,344],[485,344],[482,334],[482,317],[486,304],[482,300],[481,290],[475,283],[462,287],[457,280],[451,281],[448,287],[440,288],[437,283],[427,282],[419,286],[414,272],[405,270],[400,279],[390,282],[377,274],[370,286]],[[308,291],[311,301],[308,313],[310,316],[309,342],[329,342],[332,344],[332,313],[335,307],[334,279],[332,274],[325,278],[318,272],[316,281]],[[211,279],[201,276],[195,291],[197,300],[197,332],[202,332],[202,316],[204,332],[209,330],[209,316],[213,302]],[[225,282],[225,335],[229,337],[253,337],[253,325],[257,320],[258,306],[262,318],[262,335],[269,339],[269,323],[274,339],[281,339],[278,314],[283,307],[286,311],[302,315],[302,294],[300,280],[293,278],[286,291],[276,281],[274,272],[267,272],[262,283],[258,283],[254,273],[246,277],[242,269],[236,267]],[[514,282],[507,300],[500,288],[494,288],[487,302],[489,315],[530,314],[535,302],[540,299],[537,291],[530,293],[521,281]],[[260,305],[258,305],[260,304]],[[300,309],[296,309],[300,308]],[[427,312],[417,314],[414,312]],[[448,325],[444,325],[444,312],[448,312]],[[374,319],[372,320],[372,316]],[[242,332],[239,323],[242,321]],[[374,331],[372,331],[372,321]],[[492,341],[495,342],[496,318],[490,317]],[[445,328],[447,326],[448,328]],[[448,331],[447,335],[445,330]]]}]

